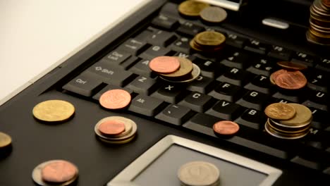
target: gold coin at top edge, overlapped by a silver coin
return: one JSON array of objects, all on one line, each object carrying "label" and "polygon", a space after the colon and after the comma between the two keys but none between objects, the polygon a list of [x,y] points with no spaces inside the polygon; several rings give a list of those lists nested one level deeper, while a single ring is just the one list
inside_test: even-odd
[{"label": "gold coin at top edge, overlapped by a silver coin", "polygon": [[200,16],[200,11],[202,11],[204,8],[207,8],[208,6],[209,4],[205,4],[198,1],[193,1],[193,0],[183,1],[178,6],[178,11],[183,16],[196,17],[196,16]]}]

